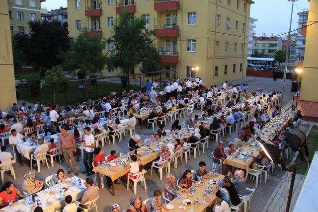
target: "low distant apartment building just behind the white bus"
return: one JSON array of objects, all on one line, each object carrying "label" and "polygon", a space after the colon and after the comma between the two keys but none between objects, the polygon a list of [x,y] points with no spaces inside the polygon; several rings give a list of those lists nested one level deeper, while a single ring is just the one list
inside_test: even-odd
[{"label": "low distant apartment building just behind the white bus", "polygon": [[282,49],[283,40],[280,37],[254,37],[254,53],[263,53],[266,58],[272,58],[274,52]]}]

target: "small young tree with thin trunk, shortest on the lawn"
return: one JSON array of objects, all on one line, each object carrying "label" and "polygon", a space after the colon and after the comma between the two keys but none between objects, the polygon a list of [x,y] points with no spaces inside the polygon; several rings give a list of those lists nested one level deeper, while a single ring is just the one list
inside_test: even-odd
[{"label": "small young tree with thin trunk, shortest on the lawn", "polygon": [[56,102],[56,90],[63,86],[64,82],[67,80],[66,75],[62,72],[63,68],[59,66],[54,66],[52,69],[46,71],[45,84],[53,88],[53,104]]}]

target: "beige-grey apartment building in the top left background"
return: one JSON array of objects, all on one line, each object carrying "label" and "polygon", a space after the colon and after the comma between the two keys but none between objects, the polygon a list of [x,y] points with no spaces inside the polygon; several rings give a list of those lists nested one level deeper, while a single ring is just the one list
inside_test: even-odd
[{"label": "beige-grey apartment building in the top left background", "polygon": [[28,33],[28,21],[41,20],[41,13],[47,13],[47,9],[41,9],[43,1],[46,0],[7,0],[11,31]]}]

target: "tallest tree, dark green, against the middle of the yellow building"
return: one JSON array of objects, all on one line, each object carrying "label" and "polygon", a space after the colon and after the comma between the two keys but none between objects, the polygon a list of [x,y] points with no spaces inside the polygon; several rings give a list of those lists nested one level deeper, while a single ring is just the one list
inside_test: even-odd
[{"label": "tallest tree, dark green, against the middle of the yellow building", "polygon": [[[149,71],[149,68],[157,64],[157,62],[153,64],[159,56],[154,54],[155,47],[151,38],[156,33],[154,30],[148,30],[145,25],[144,18],[131,19],[127,12],[122,13],[114,26],[112,36],[107,40],[114,44],[114,51],[110,52],[107,60],[108,68],[120,67],[124,73],[129,74],[143,62],[145,63],[143,71]],[[151,52],[151,55],[147,54],[148,52]],[[125,81],[127,84],[124,83]],[[125,81],[122,80],[122,85],[127,85],[129,90],[129,80]]]}]

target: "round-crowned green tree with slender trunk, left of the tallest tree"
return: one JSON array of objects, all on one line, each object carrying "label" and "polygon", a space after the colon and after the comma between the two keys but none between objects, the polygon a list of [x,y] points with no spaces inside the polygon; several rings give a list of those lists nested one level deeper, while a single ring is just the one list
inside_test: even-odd
[{"label": "round-crowned green tree with slender trunk, left of the tallest tree", "polygon": [[106,55],[103,50],[106,47],[105,39],[99,36],[91,37],[83,29],[79,36],[71,39],[70,50],[61,54],[64,58],[64,68],[71,72],[80,71],[84,76],[84,94],[87,98],[87,80],[89,73],[101,73],[105,67]]}]

